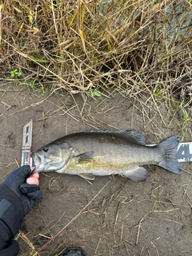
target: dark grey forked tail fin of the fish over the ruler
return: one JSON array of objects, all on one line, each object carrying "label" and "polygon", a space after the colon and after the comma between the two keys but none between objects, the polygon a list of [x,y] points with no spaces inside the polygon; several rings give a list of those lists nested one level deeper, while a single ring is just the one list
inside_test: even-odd
[{"label": "dark grey forked tail fin of the fish over the ruler", "polygon": [[181,174],[181,166],[176,158],[178,143],[178,137],[172,136],[158,144],[158,148],[161,150],[163,158],[162,162],[159,163],[159,166],[162,166],[162,168],[169,170],[174,174]]}]

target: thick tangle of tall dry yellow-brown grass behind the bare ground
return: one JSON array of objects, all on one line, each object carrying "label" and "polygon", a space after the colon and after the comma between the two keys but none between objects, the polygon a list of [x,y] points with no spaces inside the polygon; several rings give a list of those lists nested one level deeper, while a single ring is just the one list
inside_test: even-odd
[{"label": "thick tangle of tall dry yellow-brown grass behind the bare ground", "polygon": [[0,10],[2,78],[17,69],[32,87],[113,86],[190,105],[190,2],[22,0]]}]

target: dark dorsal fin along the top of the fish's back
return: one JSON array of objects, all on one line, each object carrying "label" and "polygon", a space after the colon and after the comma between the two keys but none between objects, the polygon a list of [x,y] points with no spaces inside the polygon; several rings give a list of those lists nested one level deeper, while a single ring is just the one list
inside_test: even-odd
[{"label": "dark dorsal fin along the top of the fish's back", "polygon": [[146,138],[138,130],[87,130],[87,133],[107,133],[107,134],[119,134],[122,137],[129,139],[131,143],[146,146]]}]

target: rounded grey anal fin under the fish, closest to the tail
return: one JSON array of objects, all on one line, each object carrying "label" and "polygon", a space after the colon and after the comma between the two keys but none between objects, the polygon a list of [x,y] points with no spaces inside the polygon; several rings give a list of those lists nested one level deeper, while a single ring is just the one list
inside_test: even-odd
[{"label": "rounded grey anal fin under the fish, closest to the tail", "polygon": [[132,179],[134,182],[145,182],[147,171],[142,166],[132,166],[128,170],[121,171],[120,175]]}]

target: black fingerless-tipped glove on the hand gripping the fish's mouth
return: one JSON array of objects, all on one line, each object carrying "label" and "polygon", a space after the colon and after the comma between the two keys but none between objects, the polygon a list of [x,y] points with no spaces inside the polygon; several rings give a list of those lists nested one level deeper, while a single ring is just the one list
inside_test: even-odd
[{"label": "black fingerless-tipped glove on the hand gripping the fish's mouth", "polygon": [[11,236],[18,233],[22,218],[42,201],[39,186],[26,183],[30,172],[30,166],[22,166],[0,185],[0,220],[11,231]]}]

